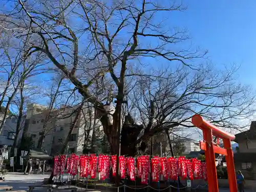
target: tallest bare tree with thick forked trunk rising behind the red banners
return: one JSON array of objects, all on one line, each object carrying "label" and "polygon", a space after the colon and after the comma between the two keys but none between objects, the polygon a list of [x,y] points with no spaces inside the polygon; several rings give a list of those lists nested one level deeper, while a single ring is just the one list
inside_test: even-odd
[{"label": "tallest bare tree with thick forked trunk rising behind the red banners", "polygon": [[[176,31],[173,34],[168,34],[167,31],[161,31],[161,26],[154,22],[153,18],[155,14],[182,10],[180,5],[160,6],[157,3],[147,3],[145,1],[138,5],[135,2],[116,2],[111,5],[105,2],[92,2],[92,4],[85,5],[82,1],[79,1],[77,5],[74,1],[70,1],[67,3],[60,2],[60,6],[57,8],[55,4],[47,3],[41,4],[47,9],[36,9],[33,5],[28,6],[22,1],[18,1],[18,3],[19,6],[15,9],[21,11],[20,13],[26,14],[24,17],[26,22],[23,26],[19,27],[27,29],[19,37],[38,35],[40,41],[43,42],[42,46],[39,42],[34,43],[28,51],[27,56],[35,52],[45,53],[54,65],[74,83],[79,93],[95,105],[95,108],[101,112],[100,120],[104,132],[111,143],[112,153],[118,151],[117,125],[119,119],[118,111],[121,110],[121,105],[116,106],[113,122],[110,122],[108,112],[104,109],[104,103],[99,101],[94,95],[91,95],[90,86],[97,79],[103,78],[106,73],[109,73],[117,88],[117,95],[113,95],[112,97],[123,100],[125,71],[129,67],[129,60],[136,60],[140,57],[161,57],[168,61],[179,61],[183,65],[190,66],[190,64],[186,63],[186,60],[204,56],[204,53],[198,54],[197,52],[173,52],[168,46],[185,40],[187,37],[184,31]],[[40,2],[38,3],[40,4]],[[55,11],[54,16],[49,10]],[[82,27],[77,32],[70,25],[70,18],[67,19],[66,11],[70,12],[76,18],[81,18],[87,26],[85,28]],[[120,22],[113,23],[116,19],[120,20]],[[8,22],[7,18],[4,20]],[[42,22],[42,20],[49,22]],[[33,25],[30,25],[31,23]],[[111,29],[108,26],[114,27]],[[129,35],[130,28],[133,30],[132,35]],[[88,31],[86,35],[90,39],[90,45],[92,46],[86,49],[82,48],[81,51],[78,51],[78,41],[81,39],[81,37],[78,37],[86,31]],[[123,31],[126,31],[128,37],[124,39],[124,42],[121,42],[120,38],[123,37]],[[143,44],[142,42],[146,38],[157,39],[159,45],[152,47]],[[60,42],[61,39],[62,41]],[[140,45],[139,40],[141,40]],[[72,46],[72,49],[67,50],[67,46]],[[53,52],[53,47],[57,48],[59,52]],[[70,54],[68,51],[71,51]],[[57,59],[56,54],[61,54],[61,61]],[[94,56],[83,56],[88,54]],[[67,63],[70,59],[73,60],[72,66],[69,66]],[[83,78],[79,78],[77,71],[79,69],[86,69],[87,67],[82,65],[82,63],[95,63],[95,61],[100,66],[96,65],[96,70],[93,70],[94,73],[92,70],[88,70]],[[63,62],[67,66],[62,65],[61,63]],[[103,63],[106,63],[106,65]],[[120,74],[120,77],[117,77],[117,74]],[[87,82],[83,81],[84,77]]]}]

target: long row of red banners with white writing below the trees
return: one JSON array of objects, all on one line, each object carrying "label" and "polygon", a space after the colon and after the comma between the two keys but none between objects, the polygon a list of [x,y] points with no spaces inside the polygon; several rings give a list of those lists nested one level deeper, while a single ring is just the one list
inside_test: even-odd
[{"label": "long row of red banners with white writing below the trees", "polygon": [[[67,161],[67,163],[66,163]],[[67,166],[65,166],[67,165]],[[98,166],[97,166],[98,165]],[[78,172],[79,167],[79,172]],[[140,156],[136,159],[133,157],[119,157],[120,178],[125,179],[129,177],[134,181],[136,176],[141,179],[141,183],[148,183],[148,176],[151,173],[152,181],[158,182],[162,175],[164,180],[178,180],[181,179],[204,179],[207,180],[206,163],[200,160],[186,159],[185,157],[158,157],[151,159],[149,156]],[[99,173],[99,179],[105,180],[109,178],[110,169],[115,177],[117,172],[117,156],[99,155],[81,155],[72,154],[70,158],[66,155],[54,157],[54,176],[66,173],[75,176],[79,174],[80,177],[92,179],[96,178],[96,173]],[[97,169],[98,168],[98,169]]]}]

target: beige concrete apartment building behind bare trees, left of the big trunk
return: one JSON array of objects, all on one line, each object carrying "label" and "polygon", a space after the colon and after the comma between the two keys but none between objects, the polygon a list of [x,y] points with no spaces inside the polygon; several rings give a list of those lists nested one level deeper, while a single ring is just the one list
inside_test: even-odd
[{"label": "beige concrete apartment building behind bare trees, left of the big trunk", "polygon": [[[60,109],[53,110],[48,114],[47,108],[38,104],[29,104],[27,106],[27,117],[24,133],[32,138],[35,147],[38,144],[41,135],[45,136],[42,150],[47,151],[49,155],[59,154],[65,142],[72,122],[75,120],[76,111],[79,105],[62,106]],[[75,129],[69,138],[69,153],[82,153],[83,145],[92,134],[95,122],[100,126],[99,120],[94,121],[94,110],[89,106],[84,106],[80,114]],[[48,121],[45,122],[47,115]]]}]

